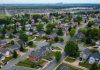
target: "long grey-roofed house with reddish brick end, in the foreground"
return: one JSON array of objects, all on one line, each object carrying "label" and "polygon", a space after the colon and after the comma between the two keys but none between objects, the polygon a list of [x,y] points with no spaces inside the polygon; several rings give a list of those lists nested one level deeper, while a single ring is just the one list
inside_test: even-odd
[{"label": "long grey-roofed house with reddish brick end, in the foreground", "polygon": [[42,46],[38,50],[34,50],[31,52],[29,55],[29,60],[34,62],[34,61],[39,61],[44,55],[49,53],[51,51],[51,47],[48,45]]}]

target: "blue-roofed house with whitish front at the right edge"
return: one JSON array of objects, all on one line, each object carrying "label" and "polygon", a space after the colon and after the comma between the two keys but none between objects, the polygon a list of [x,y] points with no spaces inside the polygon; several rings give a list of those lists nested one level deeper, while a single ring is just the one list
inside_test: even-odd
[{"label": "blue-roofed house with whitish front at the right edge", "polygon": [[93,53],[93,54],[91,54],[91,56],[89,57],[88,62],[90,64],[93,64],[93,63],[100,64],[100,54],[99,53]]}]

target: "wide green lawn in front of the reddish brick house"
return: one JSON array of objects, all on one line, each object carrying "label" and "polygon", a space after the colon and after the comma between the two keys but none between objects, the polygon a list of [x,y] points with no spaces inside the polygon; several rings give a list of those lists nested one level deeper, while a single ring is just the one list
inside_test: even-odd
[{"label": "wide green lawn in front of the reddish brick house", "polygon": [[30,68],[36,68],[38,69],[40,66],[39,65],[44,65],[46,61],[40,60],[39,62],[31,62],[28,59],[25,59],[21,62],[19,62],[18,64],[16,64],[17,66],[24,66],[24,67],[30,67]]}]

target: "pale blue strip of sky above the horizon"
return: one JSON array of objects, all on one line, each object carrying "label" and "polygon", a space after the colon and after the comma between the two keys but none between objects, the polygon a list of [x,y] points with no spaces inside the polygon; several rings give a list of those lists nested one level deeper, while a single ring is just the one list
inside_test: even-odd
[{"label": "pale blue strip of sky above the horizon", "polygon": [[100,3],[100,0],[0,0],[0,4],[10,3]]}]

